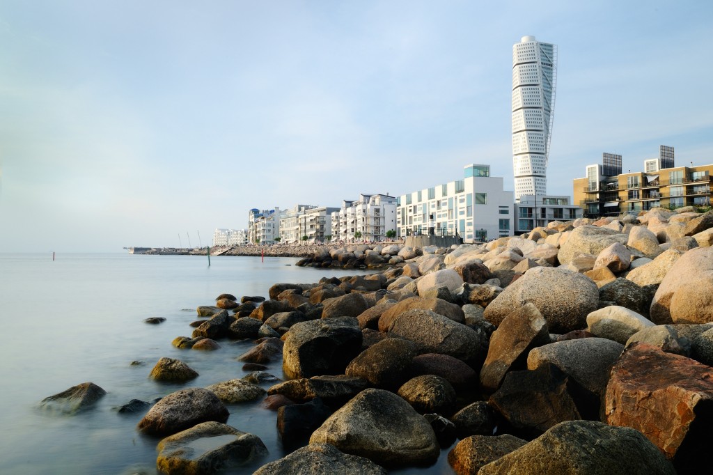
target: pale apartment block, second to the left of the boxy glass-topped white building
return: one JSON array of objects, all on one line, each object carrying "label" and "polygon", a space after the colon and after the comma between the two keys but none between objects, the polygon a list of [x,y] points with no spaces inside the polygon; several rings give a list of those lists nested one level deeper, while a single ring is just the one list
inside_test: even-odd
[{"label": "pale apartment block, second to the left of the boxy glass-topped white building", "polygon": [[[332,237],[332,213],[339,208],[296,205],[279,223],[280,242],[324,242]],[[307,239],[304,239],[307,236]]]}]

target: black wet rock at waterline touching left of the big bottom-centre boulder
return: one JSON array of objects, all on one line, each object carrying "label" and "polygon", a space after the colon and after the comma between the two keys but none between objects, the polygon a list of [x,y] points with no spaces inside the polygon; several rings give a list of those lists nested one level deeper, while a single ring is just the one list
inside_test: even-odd
[{"label": "black wet rock at waterline touching left of the big bottom-centre boulder", "polygon": [[277,431],[282,444],[292,446],[301,443],[304,439],[309,439],[312,432],[317,430],[331,415],[332,410],[319,397],[304,404],[289,404],[280,407],[277,409]]}]

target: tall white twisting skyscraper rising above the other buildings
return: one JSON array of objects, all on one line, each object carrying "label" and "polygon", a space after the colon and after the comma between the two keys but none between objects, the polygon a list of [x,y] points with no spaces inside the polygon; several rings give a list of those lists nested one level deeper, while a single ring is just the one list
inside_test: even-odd
[{"label": "tall white twisting skyscraper rising above the other buildings", "polygon": [[515,201],[547,193],[547,161],[557,86],[557,46],[523,36],[513,45]]}]

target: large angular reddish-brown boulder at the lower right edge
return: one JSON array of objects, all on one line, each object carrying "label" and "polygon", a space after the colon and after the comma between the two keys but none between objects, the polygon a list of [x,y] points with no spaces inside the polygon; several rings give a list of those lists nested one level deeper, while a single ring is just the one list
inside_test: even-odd
[{"label": "large angular reddish-brown boulder at the lower right edge", "polygon": [[679,472],[698,473],[710,448],[713,368],[634,344],[612,368],[606,416],[607,424],[645,434]]}]

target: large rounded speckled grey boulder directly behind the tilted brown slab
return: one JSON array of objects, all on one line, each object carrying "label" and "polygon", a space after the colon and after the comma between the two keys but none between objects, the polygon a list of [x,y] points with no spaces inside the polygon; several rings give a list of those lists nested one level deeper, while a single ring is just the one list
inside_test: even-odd
[{"label": "large rounded speckled grey boulder directly behind the tilted brown slab", "polygon": [[513,309],[531,302],[551,332],[567,333],[587,325],[587,315],[597,309],[599,289],[585,275],[555,267],[535,267],[525,272],[486,307],[483,316],[500,325]]}]

